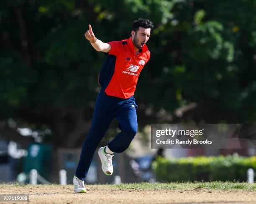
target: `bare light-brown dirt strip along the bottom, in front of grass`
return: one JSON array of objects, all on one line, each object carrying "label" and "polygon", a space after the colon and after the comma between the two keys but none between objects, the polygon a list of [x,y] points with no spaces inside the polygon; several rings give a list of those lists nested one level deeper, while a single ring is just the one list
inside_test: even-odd
[{"label": "bare light-brown dirt strip along the bottom, in front of grass", "polygon": [[0,203],[51,203],[51,204],[169,204],[169,203],[255,203],[256,192],[232,190],[165,190],[116,189],[87,185],[86,194],[74,194],[73,186],[2,186],[0,194],[29,194],[29,202]]}]

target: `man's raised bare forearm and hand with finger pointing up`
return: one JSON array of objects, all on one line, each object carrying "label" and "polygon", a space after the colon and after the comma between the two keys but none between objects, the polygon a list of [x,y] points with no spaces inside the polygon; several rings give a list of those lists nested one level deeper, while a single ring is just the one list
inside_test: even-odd
[{"label": "man's raised bare forearm and hand with finger pointing up", "polygon": [[89,24],[89,30],[87,30],[84,34],[85,38],[90,41],[92,47],[99,52],[109,52],[111,46],[108,43],[102,42],[101,40],[95,37],[94,33],[92,32],[92,26]]}]

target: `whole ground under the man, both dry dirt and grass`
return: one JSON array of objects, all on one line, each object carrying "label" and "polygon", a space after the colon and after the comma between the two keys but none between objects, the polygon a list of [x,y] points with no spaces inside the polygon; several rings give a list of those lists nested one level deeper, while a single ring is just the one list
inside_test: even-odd
[{"label": "whole ground under the man, both dry dirt and grass", "polygon": [[30,204],[256,204],[256,184],[239,182],[106,184],[86,185],[86,188],[86,194],[74,194],[72,185],[1,184],[0,194],[29,194]]}]

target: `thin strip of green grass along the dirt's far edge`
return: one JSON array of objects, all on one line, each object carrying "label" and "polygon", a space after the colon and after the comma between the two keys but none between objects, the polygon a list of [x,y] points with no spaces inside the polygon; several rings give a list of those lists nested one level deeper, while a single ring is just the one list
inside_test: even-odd
[{"label": "thin strip of green grass along the dirt's far edge", "polygon": [[[41,185],[41,184],[40,184]],[[12,184],[0,184],[5,187],[30,187],[31,185],[20,185],[17,183]],[[59,184],[51,185],[41,185],[49,187],[59,187]],[[67,185],[68,187],[73,187],[73,185]],[[256,183],[248,184],[246,182],[184,182],[184,183],[131,183],[131,184],[94,184],[86,185],[89,189],[90,187],[100,187],[100,188],[113,188],[113,189],[171,189],[171,190],[247,190],[256,192]]]}]

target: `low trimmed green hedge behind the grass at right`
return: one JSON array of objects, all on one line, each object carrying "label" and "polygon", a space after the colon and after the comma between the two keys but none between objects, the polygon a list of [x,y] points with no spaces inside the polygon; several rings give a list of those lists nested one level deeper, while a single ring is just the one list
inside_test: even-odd
[{"label": "low trimmed green hedge behind the grass at right", "polygon": [[247,170],[256,171],[256,156],[187,157],[168,160],[159,157],[154,163],[160,182],[246,181]]}]

